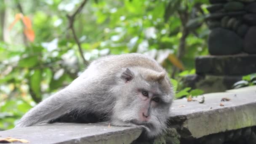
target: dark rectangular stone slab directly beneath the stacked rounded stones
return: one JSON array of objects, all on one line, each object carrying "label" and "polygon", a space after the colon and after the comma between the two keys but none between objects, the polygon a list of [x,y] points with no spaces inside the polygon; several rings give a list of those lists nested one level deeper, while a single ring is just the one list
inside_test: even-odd
[{"label": "dark rectangular stone slab directly beneath the stacked rounded stones", "polygon": [[199,75],[248,75],[256,72],[255,54],[199,56],[195,59]]}]

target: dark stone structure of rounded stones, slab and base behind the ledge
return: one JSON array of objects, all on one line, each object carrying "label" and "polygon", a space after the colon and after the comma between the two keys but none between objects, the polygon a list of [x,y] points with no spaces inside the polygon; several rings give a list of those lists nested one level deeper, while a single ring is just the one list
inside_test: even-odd
[{"label": "dark stone structure of rounded stones, slab and base behind the ledge", "polygon": [[209,0],[209,56],[195,59],[184,87],[220,92],[256,72],[256,0]]}]

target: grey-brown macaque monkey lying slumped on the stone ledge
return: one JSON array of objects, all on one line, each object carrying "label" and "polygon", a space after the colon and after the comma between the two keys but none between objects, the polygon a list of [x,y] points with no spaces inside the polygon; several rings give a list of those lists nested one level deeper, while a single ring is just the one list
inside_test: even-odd
[{"label": "grey-brown macaque monkey lying slumped on the stone ledge", "polygon": [[162,134],[173,102],[167,72],[144,54],[92,61],[67,87],[30,109],[15,128],[48,123],[68,112],[108,117],[111,125],[139,125],[149,138]]}]

